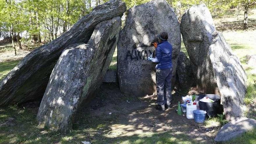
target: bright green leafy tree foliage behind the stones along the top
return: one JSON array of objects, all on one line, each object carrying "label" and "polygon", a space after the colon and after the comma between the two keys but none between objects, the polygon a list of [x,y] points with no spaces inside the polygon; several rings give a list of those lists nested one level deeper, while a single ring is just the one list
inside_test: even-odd
[{"label": "bright green leafy tree foliage behind the stones along the top", "polygon": [[[17,35],[33,42],[51,41],[67,31],[78,19],[93,7],[107,0],[0,0],[0,36],[13,38]],[[127,8],[150,0],[123,0]],[[194,4],[205,3],[212,15],[223,16],[231,7],[240,6],[248,11],[255,0],[167,0],[178,18]],[[247,17],[247,15],[246,15]],[[18,40],[19,42],[19,40]]]}]

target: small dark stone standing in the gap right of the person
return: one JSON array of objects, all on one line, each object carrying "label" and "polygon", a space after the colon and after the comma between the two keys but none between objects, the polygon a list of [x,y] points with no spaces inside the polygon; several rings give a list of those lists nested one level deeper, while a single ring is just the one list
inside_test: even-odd
[{"label": "small dark stone standing in the gap right of the person", "polygon": [[180,51],[179,53],[177,62],[177,76],[179,79],[179,84],[182,88],[190,88],[195,81],[190,60],[183,51]]}]

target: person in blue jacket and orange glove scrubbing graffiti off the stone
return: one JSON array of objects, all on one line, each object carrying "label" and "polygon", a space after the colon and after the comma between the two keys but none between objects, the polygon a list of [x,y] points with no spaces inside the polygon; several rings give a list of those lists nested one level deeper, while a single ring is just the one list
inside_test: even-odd
[{"label": "person in blue jacket and orange glove scrubbing graffiti off the stone", "polygon": [[158,63],[156,65],[156,82],[157,82],[157,106],[159,111],[169,109],[172,100],[172,45],[167,41],[168,33],[162,32],[158,35],[158,43],[153,43],[156,48],[155,58],[148,60]]}]

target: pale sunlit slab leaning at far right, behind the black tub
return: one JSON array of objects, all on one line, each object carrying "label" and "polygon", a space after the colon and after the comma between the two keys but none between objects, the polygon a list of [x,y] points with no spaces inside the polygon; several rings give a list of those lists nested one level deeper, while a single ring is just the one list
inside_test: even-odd
[{"label": "pale sunlit slab leaning at far right, behind the black tub", "polygon": [[209,50],[225,117],[227,120],[241,117],[245,108],[247,77],[239,58],[218,31],[212,35]]}]

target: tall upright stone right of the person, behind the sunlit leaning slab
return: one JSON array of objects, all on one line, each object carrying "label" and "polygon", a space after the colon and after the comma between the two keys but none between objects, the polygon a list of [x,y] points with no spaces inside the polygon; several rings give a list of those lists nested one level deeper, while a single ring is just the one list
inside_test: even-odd
[{"label": "tall upright stone right of the person, behind the sunlit leaning slab", "polygon": [[212,33],[216,29],[205,4],[189,8],[182,16],[180,29],[198,89],[206,94],[219,94],[209,57]]}]

